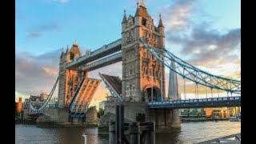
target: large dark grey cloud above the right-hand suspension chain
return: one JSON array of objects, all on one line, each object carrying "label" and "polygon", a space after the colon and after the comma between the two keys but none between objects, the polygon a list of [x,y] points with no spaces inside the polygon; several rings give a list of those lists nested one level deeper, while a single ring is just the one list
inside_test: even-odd
[{"label": "large dark grey cloud above the right-hand suspension chain", "polygon": [[170,35],[167,41],[182,46],[182,55],[190,55],[189,62],[197,66],[212,66],[240,59],[241,29],[220,34],[216,30],[194,27],[191,34]]}]

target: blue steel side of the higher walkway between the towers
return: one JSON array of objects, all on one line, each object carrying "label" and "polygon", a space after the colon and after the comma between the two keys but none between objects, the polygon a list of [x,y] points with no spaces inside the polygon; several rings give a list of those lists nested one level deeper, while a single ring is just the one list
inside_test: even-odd
[{"label": "blue steel side of the higher walkway between the towers", "polygon": [[[117,49],[117,47],[119,47],[119,48],[116,51],[121,50],[121,44],[122,44],[122,39],[121,38],[114,41],[114,42],[110,42],[109,44],[102,46],[98,50],[92,51],[90,53],[90,55],[84,55],[80,58],[74,59],[74,61],[72,61],[72,62],[70,62],[66,65],[66,68],[70,68],[72,66],[80,65],[83,62],[87,62],[87,61],[90,62],[90,61],[96,60],[96,59],[98,59],[98,55],[100,55],[100,54],[104,55],[106,53],[106,51]],[[114,52],[115,51],[113,51],[113,53]]]}]

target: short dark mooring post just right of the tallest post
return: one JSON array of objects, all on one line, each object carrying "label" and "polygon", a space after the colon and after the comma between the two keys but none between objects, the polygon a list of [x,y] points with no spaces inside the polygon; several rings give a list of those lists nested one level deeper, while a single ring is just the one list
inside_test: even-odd
[{"label": "short dark mooring post just right of the tallest post", "polygon": [[138,131],[138,122],[133,122],[130,125],[130,144],[139,144],[140,143],[140,135]]}]

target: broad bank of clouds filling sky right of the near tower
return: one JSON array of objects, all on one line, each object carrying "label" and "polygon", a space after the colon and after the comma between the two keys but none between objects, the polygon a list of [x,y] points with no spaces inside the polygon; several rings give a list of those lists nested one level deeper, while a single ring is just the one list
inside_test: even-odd
[{"label": "broad bank of clouds filling sky right of the near tower", "polygon": [[[224,34],[213,29],[212,22],[193,22],[194,14],[198,14],[197,6],[197,0],[174,0],[163,7],[162,10],[166,11],[163,13],[166,48],[169,45],[179,46],[178,56],[194,66],[222,76],[236,75],[237,78],[241,70],[241,29],[227,30]],[[200,16],[207,17],[203,9],[200,11],[203,13]],[[214,18],[211,21],[214,22]],[[233,66],[233,69],[225,70],[227,66]]]}]

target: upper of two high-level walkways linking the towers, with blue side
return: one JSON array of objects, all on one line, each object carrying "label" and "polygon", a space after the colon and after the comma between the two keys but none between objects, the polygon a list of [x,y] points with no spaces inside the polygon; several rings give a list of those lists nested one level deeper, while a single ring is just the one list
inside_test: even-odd
[{"label": "upper of two high-level walkways linking the towers, with blue side", "polygon": [[[66,65],[66,68],[75,69],[78,66],[86,65],[87,63],[93,62],[99,58],[103,58],[103,57],[106,57],[107,55],[114,54],[121,50],[121,47],[122,47],[121,44],[122,44],[121,38],[114,42],[110,42],[109,44],[104,45],[101,48],[92,51],[90,54],[86,54],[80,58],[74,59],[74,61]],[[121,60],[120,58],[118,60],[121,61],[122,57],[121,57]]]}]

